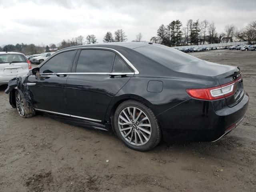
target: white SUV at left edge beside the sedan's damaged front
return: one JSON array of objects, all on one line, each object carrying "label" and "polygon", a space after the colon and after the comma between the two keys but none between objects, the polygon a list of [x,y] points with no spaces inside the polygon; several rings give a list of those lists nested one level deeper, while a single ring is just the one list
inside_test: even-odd
[{"label": "white SUV at left edge beside the sedan's damaged front", "polygon": [[15,77],[27,75],[30,69],[31,64],[24,54],[0,52],[0,85],[8,84]]}]

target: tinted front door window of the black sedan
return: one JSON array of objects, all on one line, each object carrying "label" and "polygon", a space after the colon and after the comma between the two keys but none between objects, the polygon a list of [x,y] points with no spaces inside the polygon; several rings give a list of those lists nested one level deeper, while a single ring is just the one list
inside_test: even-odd
[{"label": "tinted front door window of the black sedan", "polygon": [[76,50],[60,53],[43,66],[40,67],[40,73],[69,73],[71,72],[72,62],[74,60]]}]

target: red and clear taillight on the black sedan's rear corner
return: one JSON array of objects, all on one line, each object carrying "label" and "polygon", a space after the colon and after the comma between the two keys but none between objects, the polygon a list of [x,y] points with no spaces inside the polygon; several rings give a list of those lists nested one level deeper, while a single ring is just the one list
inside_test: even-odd
[{"label": "red and clear taillight on the black sedan's rear corner", "polygon": [[186,92],[193,98],[202,100],[217,100],[234,94],[235,83],[242,80],[238,78],[230,83],[204,89],[186,89]]}]

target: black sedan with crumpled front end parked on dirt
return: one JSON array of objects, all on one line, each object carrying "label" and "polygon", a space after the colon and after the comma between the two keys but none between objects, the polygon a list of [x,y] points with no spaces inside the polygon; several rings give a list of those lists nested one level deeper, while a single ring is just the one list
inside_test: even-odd
[{"label": "black sedan with crumpled front end parked on dirt", "polygon": [[74,46],[11,80],[10,104],[111,130],[130,148],[160,140],[215,141],[244,118],[249,97],[238,67],[152,43]]}]

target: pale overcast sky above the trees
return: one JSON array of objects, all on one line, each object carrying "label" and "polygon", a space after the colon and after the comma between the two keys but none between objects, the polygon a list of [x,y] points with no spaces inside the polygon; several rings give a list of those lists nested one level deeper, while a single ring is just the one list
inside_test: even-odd
[{"label": "pale overcast sky above the trees", "polygon": [[0,46],[58,44],[88,34],[98,42],[107,31],[123,29],[128,41],[156,36],[161,24],[188,19],[214,22],[218,32],[226,24],[242,28],[255,20],[256,0],[0,0]]}]

